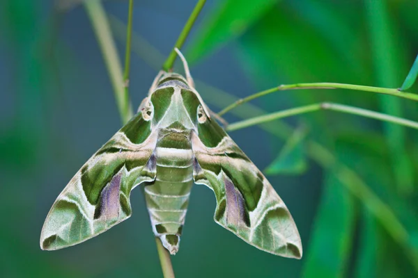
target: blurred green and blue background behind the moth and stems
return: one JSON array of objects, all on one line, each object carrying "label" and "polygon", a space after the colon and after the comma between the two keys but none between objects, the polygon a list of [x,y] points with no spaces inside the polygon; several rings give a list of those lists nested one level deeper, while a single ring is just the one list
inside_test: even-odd
[{"label": "blurred green and blue background behind the moth and stems", "polygon": [[[0,277],[161,277],[140,190],[131,195],[132,218],[106,233],[56,252],[38,244],[54,199],[121,126],[80,2],[0,3]],[[135,107],[195,3],[135,1]],[[103,5],[123,57],[127,1]],[[210,0],[184,54],[213,111],[282,83],[398,88],[417,55],[417,14],[414,0]],[[417,84],[409,91],[418,92]],[[225,118],[320,101],[418,118],[414,101],[348,90],[277,92]],[[172,258],[178,277],[417,277],[418,132],[319,111],[231,137],[264,170],[301,126],[307,134],[289,155],[293,167],[268,179],[300,230],[302,259],[261,252],[215,224],[213,193],[194,186]]]}]

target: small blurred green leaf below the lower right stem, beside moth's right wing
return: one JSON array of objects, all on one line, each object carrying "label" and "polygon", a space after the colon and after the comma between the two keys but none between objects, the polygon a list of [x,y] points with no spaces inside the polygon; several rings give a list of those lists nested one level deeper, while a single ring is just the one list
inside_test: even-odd
[{"label": "small blurred green leaf below the lower right stem, beside moth's right wing", "polygon": [[287,140],[276,159],[265,169],[265,174],[301,174],[307,170],[304,152],[306,129],[297,129]]}]

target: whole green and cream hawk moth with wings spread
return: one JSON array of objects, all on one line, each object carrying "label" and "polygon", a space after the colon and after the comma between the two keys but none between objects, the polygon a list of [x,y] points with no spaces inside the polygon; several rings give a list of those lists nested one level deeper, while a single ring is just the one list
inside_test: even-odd
[{"label": "whole green and cream hawk moth with wings spread", "polygon": [[[186,77],[161,71],[138,113],[70,180],[49,211],[42,250],[82,243],[132,214],[130,192],[143,186],[155,236],[178,252],[192,185],[208,186],[214,220],[260,250],[300,259],[291,213],[233,142]],[[213,116],[213,115],[212,115]]]}]

